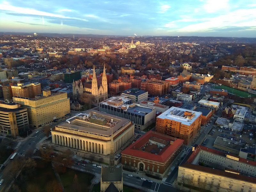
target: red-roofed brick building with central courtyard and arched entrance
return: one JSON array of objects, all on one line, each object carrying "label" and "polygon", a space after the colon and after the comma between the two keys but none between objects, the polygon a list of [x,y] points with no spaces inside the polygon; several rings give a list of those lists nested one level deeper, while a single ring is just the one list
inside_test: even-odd
[{"label": "red-roofed brick building with central courtyard and arched entrance", "polygon": [[149,131],[121,152],[128,169],[163,177],[182,150],[183,140]]}]

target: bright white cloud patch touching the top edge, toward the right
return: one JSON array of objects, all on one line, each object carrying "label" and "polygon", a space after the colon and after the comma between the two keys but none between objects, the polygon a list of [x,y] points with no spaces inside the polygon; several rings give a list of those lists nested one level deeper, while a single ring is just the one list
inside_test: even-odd
[{"label": "bright white cloud patch touching the top edge, toward the right", "polygon": [[228,9],[228,0],[207,0],[203,8],[208,13],[214,13],[221,9]]}]

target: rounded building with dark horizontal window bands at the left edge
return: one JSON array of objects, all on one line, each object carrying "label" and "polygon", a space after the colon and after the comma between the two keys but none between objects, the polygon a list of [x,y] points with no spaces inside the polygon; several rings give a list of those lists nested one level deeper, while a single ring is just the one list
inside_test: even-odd
[{"label": "rounded building with dark horizontal window bands at the left edge", "polygon": [[25,132],[28,128],[26,108],[22,108],[19,103],[0,102],[0,132],[11,133],[12,137],[16,138],[20,132]]}]

